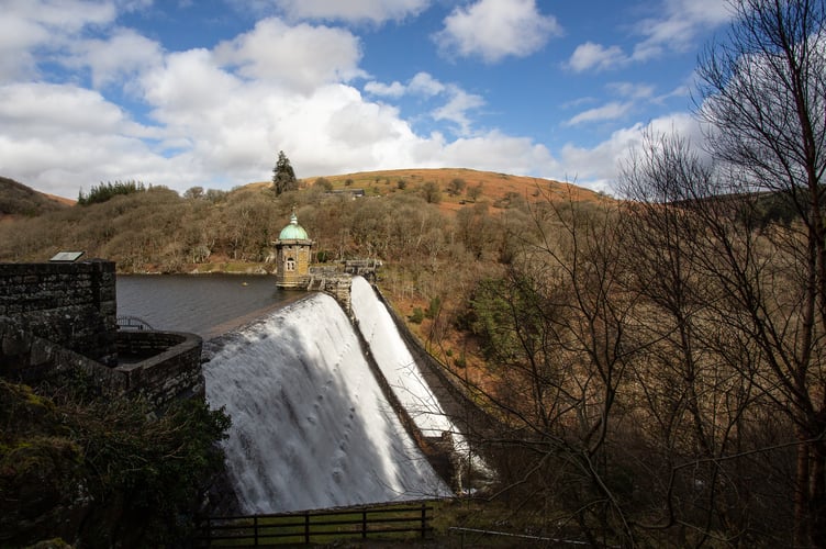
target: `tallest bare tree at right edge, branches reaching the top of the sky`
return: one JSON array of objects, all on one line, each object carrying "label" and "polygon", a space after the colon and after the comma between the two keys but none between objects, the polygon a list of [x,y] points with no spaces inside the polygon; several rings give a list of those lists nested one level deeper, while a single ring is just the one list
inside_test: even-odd
[{"label": "tallest bare tree at right edge, branches reaching the top of the sky", "polygon": [[[701,60],[699,114],[730,188],[788,197],[800,224],[773,236],[784,288],[760,266],[735,265],[727,295],[746,312],[744,329],[761,346],[769,383],[794,422],[797,446],[794,541],[826,542],[826,3],[739,0],[726,42]],[[722,231],[722,227],[721,227]],[[718,235],[719,236],[719,235]],[[762,271],[766,273],[766,270]]]}]

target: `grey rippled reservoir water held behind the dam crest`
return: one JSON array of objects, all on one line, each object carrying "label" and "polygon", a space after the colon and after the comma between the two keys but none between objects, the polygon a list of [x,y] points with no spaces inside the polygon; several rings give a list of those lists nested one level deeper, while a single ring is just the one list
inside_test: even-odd
[{"label": "grey rippled reservoir water held behind the dam crest", "polygon": [[130,274],[119,276],[116,288],[118,316],[205,339],[305,295],[276,288],[265,274]]}]

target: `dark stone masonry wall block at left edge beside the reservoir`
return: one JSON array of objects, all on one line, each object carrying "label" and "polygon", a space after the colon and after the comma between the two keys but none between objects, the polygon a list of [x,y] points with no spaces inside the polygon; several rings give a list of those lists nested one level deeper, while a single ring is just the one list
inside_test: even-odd
[{"label": "dark stone masonry wall block at left edge beside the reservoir", "polygon": [[118,361],[114,262],[0,264],[0,316],[107,366]]}]

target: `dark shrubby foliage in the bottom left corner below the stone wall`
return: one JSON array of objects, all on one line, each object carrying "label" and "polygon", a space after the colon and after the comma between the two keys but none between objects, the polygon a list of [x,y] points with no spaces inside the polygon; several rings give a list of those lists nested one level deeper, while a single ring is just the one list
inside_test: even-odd
[{"label": "dark shrubby foliage in the bottom left corner below the stone wall", "polygon": [[185,536],[223,467],[223,411],[186,401],[156,419],[145,402],[93,397],[82,381],[43,391],[0,380],[0,539],[159,547]]}]

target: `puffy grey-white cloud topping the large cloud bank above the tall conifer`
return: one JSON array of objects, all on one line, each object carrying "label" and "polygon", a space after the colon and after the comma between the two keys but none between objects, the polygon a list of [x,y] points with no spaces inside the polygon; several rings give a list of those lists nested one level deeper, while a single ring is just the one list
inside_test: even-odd
[{"label": "puffy grey-white cloud topping the large cloud bank above the tall conifer", "polygon": [[219,63],[237,67],[250,79],[271,81],[302,92],[364,76],[359,41],[342,29],[265,19],[255,29],[215,48]]}]

